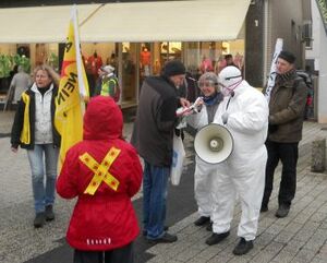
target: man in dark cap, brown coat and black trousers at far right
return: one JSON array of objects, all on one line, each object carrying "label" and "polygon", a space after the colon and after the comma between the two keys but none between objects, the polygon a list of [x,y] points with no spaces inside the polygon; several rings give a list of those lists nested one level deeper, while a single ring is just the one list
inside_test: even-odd
[{"label": "man in dark cap, brown coat and black trousers at far right", "polygon": [[268,160],[261,211],[268,211],[275,168],[281,160],[277,217],[288,215],[295,195],[299,142],[302,139],[303,112],[307,95],[306,85],[302,77],[298,76],[294,62],[294,55],[288,51],[280,52],[277,59],[278,74],[269,99],[269,129],[266,142]]}]

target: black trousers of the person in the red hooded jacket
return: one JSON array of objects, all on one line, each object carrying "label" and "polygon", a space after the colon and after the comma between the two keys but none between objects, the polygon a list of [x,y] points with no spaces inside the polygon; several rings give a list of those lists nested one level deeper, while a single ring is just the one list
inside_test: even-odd
[{"label": "black trousers of the person in the red hooded jacket", "polygon": [[134,263],[133,242],[109,251],[74,251],[74,263]]}]

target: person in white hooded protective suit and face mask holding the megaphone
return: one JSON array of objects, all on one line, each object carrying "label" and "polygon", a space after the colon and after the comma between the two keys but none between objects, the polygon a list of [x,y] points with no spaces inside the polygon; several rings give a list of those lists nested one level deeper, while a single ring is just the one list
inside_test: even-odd
[{"label": "person in white hooded protective suit and face mask holding the megaphone", "polygon": [[214,234],[206,240],[211,246],[229,236],[235,198],[241,202],[242,215],[233,250],[237,255],[253,248],[265,188],[268,129],[268,105],[264,95],[242,80],[241,71],[227,67],[219,73],[219,85],[225,95],[215,123],[225,125],[232,134],[232,154],[218,164],[214,180]]}]

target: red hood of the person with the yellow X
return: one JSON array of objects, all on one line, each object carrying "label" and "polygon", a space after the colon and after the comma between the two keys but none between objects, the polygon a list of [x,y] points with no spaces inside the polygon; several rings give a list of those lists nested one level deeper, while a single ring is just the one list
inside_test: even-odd
[{"label": "red hood of the person with the yellow X", "polygon": [[122,138],[121,109],[108,96],[96,96],[87,104],[84,115],[83,139],[108,140]]}]

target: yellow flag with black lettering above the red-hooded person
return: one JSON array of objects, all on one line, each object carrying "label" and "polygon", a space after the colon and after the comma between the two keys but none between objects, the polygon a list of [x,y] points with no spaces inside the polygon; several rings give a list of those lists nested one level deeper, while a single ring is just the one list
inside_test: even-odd
[{"label": "yellow flag with black lettering above the red-hooded person", "polygon": [[59,92],[56,99],[55,125],[61,135],[59,170],[66,151],[83,138],[84,99],[88,84],[82,62],[76,8],[72,10],[64,48]]}]

